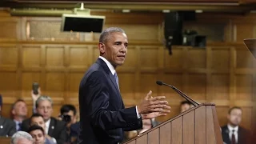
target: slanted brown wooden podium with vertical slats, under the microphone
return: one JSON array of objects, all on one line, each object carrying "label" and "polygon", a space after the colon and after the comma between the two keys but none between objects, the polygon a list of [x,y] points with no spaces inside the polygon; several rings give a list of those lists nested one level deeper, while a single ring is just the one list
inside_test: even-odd
[{"label": "slanted brown wooden podium with vertical slats, under the microphone", "polygon": [[223,144],[213,103],[186,110],[123,144]]}]

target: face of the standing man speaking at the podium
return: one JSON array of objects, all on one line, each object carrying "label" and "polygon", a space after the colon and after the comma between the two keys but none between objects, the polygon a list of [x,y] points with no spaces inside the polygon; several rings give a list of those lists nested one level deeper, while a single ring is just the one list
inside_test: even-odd
[{"label": "face of the standing man speaking at the podium", "polygon": [[108,38],[106,38],[106,42],[98,44],[102,56],[114,67],[121,66],[125,62],[127,46],[127,36],[121,32],[111,33]]}]

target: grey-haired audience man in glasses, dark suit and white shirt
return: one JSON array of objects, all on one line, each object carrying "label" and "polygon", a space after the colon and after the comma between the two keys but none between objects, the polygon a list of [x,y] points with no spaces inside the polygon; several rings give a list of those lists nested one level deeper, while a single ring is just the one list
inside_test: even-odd
[{"label": "grey-haired audience man in glasses, dark suit and white shirt", "polygon": [[[42,114],[46,122],[46,134],[48,134],[56,143],[65,143],[67,140],[66,122],[51,117],[53,113],[53,101],[48,96],[40,96],[35,104],[38,114]],[[30,127],[30,118],[22,122],[22,130],[27,131]]]}]

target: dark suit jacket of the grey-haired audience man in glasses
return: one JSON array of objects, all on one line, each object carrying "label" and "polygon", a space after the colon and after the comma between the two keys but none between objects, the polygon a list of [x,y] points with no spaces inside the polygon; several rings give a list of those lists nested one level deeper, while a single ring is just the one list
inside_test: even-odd
[{"label": "dark suit jacket of the grey-haired audience man in glasses", "polygon": [[[27,131],[30,127],[30,118],[22,122],[22,131]],[[56,118],[50,118],[50,126],[48,135],[56,139],[58,144],[63,144],[67,141],[66,122],[57,120]]]}]

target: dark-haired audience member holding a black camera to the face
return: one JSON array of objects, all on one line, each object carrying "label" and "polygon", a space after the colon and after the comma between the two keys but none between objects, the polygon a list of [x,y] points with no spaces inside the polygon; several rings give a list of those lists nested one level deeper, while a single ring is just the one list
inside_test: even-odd
[{"label": "dark-haired audience member holding a black camera to the face", "polygon": [[[77,122],[77,110],[73,105],[63,105],[60,109],[59,119],[66,122],[67,133],[69,134],[68,142],[75,141],[78,138],[79,122]],[[72,126],[72,130],[71,130]],[[72,138],[71,138],[72,137]]]}]

